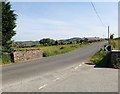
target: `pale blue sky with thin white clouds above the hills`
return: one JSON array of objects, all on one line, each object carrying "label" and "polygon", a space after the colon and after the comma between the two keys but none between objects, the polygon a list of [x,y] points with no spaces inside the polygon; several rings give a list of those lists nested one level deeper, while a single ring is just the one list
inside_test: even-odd
[{"label": "pale blue sky with thin white clouds above the hills", "polygon": [[55,40],[72,37],[118,37],[118,3],[93,2],[12,2],[17,16],[15,41]]}]

